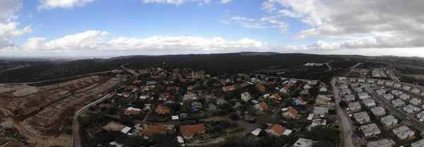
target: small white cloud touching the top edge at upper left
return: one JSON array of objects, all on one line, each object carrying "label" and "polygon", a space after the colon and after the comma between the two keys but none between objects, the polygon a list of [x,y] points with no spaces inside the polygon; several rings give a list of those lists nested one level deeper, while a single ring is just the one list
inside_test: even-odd
[{"label": "small white cloud touching the top edge at upper left", "polygon": [[73,8],[73,6],[84,6],[95,0],[38,0],[40,5],[37,9],[40,11],[42,9],[51,9],[51,8]]}]

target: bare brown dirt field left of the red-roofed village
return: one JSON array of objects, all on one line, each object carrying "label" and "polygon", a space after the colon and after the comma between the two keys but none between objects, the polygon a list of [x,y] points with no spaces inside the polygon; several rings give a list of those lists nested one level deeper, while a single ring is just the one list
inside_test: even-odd
[{"label": "bare brown dirt field left of the red-roofed village", "polygon": [[83,77],[43,87],[18,84],[7,87],[0,96],[0,110],[9,118],[3,127],[16,127],[29,143],[37,146],[71,146],[71,135],[64,134],[67,117],[90,101],[113,89],[119,79]]}]

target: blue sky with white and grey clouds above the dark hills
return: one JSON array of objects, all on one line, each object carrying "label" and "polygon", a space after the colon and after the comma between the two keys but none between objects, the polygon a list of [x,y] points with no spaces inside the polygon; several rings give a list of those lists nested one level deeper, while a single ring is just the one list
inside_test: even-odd
[{"label": "blue sky with white and grey clouds above the dark hills", "polygon": [[424,57],[422,0],[0,0],[0,56]]}]

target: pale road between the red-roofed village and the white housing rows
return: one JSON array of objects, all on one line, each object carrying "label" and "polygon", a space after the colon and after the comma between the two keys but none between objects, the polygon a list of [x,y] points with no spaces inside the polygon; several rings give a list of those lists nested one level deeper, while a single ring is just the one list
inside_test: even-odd
[{"label": "pale road between the red-roofed village and the white housing rows", "polygon": [[343,147],[354,147],[355,144],[353,144],[352,136],[349,134],[349,132],[355,134],[355,129],[353,129],[351,121],[348,120],[350,118],[348,117],[347,113],[340,106],[338,106],[338,102],[341,101],[341,97],[340,92],[338,91],[338,87],[336,87],[336,79],[331,80],[331,86],[333,87],[334,101],[336,103],[338,125],[341,127]]}]

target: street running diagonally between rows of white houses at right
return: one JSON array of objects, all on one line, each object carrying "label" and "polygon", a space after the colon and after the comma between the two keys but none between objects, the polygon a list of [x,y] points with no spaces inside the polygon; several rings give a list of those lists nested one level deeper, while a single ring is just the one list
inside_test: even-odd
[{"label": "street running diagonally between rows of white houses at right", "polygon": [[[395,108],[393,105],[391,105],[391,103],[386,101],[386,99],[382,98],[382,96],[379,96],[375,91],[373,91],[370,88],[369,84],[361,84],[361,85],[363,87],[365,87],[365,90],[367,90],[368,94],[371,94],[371,96],[373,98],[375,98],[375,100],[377,100],[377,102],[379,102],[379,106],[382,106],[383,108],[386,108],[387,110],[389,110],[391,115],[394,115],[396,117],[401,118],[403,120],[402,124],[409,125],[411,127],[415,127],[416,129],[420,130],[420,132],[424,131],[423,122],[420,122],[420,120],[418,120],[416,117],[414,117],[414,115],[405,113],[403,110],[399,110],[398,108]],[[410,119],[408,119],[406,117],[409,117]],[[417,126],[415,126],[413,124],[417,124]]]}]

